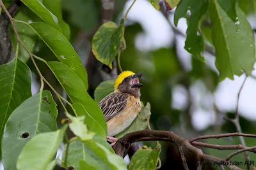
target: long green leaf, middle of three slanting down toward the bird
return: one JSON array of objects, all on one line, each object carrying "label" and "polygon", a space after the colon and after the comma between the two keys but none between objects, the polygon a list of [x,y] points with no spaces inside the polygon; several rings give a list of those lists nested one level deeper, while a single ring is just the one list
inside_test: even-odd
[{"label": "long green leaf, middle of three slanting down toward the bird", "polygon": [[31,25],[38,36],[42,38],[45,44],[49,46],[56,57],[58,57],[63,64],[66,64],[70,69],[72,69],[72,71],[74,71],[75,74],[77,74],[77,76],[79,76],[83,81],[84,87],[87,89],[88,83],[86,70],[67,38],[65,38],[61,32],[56,31],[43,22],[33,22],[29,25]]}]

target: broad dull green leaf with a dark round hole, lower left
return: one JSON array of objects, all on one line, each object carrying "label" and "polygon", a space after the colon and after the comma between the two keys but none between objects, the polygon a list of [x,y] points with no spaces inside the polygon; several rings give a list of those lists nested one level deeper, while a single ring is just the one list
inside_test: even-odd
[{"label": "broad dull green leaf with a dark round hole, lower left", "polygon": [[16,169],[22,148],[38,133],[57,130],[57,109],[51,92],[41,91],[24,101],[8,118],[2,139],[4,169]]}]

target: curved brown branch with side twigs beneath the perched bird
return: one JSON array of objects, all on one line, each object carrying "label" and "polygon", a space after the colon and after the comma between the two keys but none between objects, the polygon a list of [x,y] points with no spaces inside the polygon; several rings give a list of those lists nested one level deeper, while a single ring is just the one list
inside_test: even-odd
[{"label": "curved brown branch with side twigs beneath the perched bird", "polygon": [[[197,138],[192,138],[192,139],[184,139],[175,134],[174,132],[169,132],[169,131],[154,131],[154,130],[143,130],[143,131],[136,131],[136,132],[131,132],[129,134],[126,134],[124,137],[118,139],[116,141],[115,145],[113,145],[113,149],[115,150],[117,155],[120,155],[121,157],[124,157],[125,154],[127,153],[127,150],[131,147],[131,144],[137,141],[169,141],[172,143],[175,143],[177,145],[179,153],[181,154],[182,157],[182,151],[180,150],[179,146],[184,148],[185,150],[188,150],[190,155],[193,155],[198,159],[199,162],[203,162],[204,160],[208,160],[211,162],[214,162],[214,164],[220,166],[227,166],[230,169],[240,169],[239,167],[236,166],[229,166],[228,161],[225,159],[220,159],[218,157],[213,157],[211,155],[206,155],[200,150],[199,148],[196,148],[193,146],[194,144],[200,144],[202,143],[197,143],[194,142],[198,139],[209,139],[209,138],[224,138],[224,137],[230,137],[230,136],[248,136],[252,138],[256,138],[256,135],[253,134],[243,134],[243,133],[230,133],[230,134],[219,134],[219,135],[205,135],[205,136],[199,136]],[[213,146],[213,145],[209,145]],[[245,146],[226,146],[227,148],[221,148],[221,149],[230,149],[230,148],[241,148]],[[219,145],[216,145],[216,149],[219,149]],[[247,149],[247,148],[246,148]],[[255,152],[252,148],[250,148],[253,152]],[[184,160],[184,159],[183,159]],[[198,168],[200,169],[200,164],[198,164]]]}]

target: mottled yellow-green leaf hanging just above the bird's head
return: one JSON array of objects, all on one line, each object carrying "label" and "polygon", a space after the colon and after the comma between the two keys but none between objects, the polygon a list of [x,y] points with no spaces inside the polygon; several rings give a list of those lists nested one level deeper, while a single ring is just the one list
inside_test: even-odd
[{"label": "mottled yellow-green leaf hanging just above the bird's head", "polygon": [[102,24],[92,39],[92,52],[96,59],[112,69],[112,61],[124,39],[124,19],[117,27],[115,22]]}]

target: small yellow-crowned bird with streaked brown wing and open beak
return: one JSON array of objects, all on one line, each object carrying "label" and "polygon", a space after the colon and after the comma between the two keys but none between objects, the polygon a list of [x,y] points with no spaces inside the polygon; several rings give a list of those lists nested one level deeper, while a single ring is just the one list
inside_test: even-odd
[{"label": "small yellow-crowned bird with streaked brown wing and open beak", "polygon": [[124,131],[141,110],[139,82],[143,74],[123,71],[115,81],[115,90],[99,102],[108,125],[108,136]]}]

